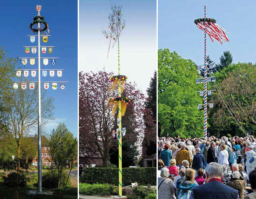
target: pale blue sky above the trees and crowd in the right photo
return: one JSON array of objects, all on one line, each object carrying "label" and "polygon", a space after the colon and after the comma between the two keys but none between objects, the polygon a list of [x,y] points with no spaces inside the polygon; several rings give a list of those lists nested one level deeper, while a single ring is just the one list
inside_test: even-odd
[{"label": "pale blue sky above the trees and crowd in the right photo", "polygon": [[207,55],[216,63],[223,51],[231,51],[233,63],[256,63],[255,0],[158,0],[158,49],[177,51],[196,64],[203,64],[204,32],[194,24],[196,18],[215,18],[231,33],[230,42],[214,43],[207,36]]}]

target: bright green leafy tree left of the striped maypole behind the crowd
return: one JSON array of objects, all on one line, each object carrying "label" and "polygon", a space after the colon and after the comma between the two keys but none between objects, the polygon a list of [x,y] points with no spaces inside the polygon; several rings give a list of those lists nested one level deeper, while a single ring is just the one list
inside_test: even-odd
[{"label": "bright green leafy tree left of the striped maypole behind the crowd", "polygon": [[194,62],[175,51],[158,50],[158,121],[161,135],[199,137],[203,135],[202,99],[195,91],[198,71]]}]

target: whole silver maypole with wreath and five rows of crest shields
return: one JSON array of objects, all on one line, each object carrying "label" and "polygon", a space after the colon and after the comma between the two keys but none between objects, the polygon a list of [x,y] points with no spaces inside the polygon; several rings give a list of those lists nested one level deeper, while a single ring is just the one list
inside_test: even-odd
[{"label": "whole silver maypole with wreath and five rows of crest shields", "polygon": [[[28,59],[30,59],[30,65],[35,64],[35,59],[38,61],[38,68],[36,69],[15,69],[17,77],[21,77],[22,72],[24,71],[24,77],[28,77],[29,71],[31,71],[31,76],[35,77],[36,76],[36,71],[38,75],[38,81],[15,81],[13,82],[13,87],[14,89],[19,88],[19,83],[21,84],[21,89],[26,89],[27,88],[27,83],[29,84],[29,89],[33,90],[35,88],[35,84],[37,83],[37,91],[38,91],[38,106],[37,106],[37,155],[38,155],[38,162],[37,162],[37,167],[38,167],[38,190],[36,191],[36,194],[43,195],[45,194],[42,191],[42,160],[41,160],[41,83],[44,83],[44,88],[49,89],[50,83],[52,83],[52,89],[56,90],[57,89],[57,84],[60,83],[60,89],[65,89],[65,83],[68,83],[68,81],[41,81],[41,71],[43,73],[43,77],[47,76],[47,71],[49,71],[49,75],[51,77],[54,77],[55,71],[57,71],[57,76],[62,77],[62,71],[63,69],[43,69],[41,70],[41,59],[43,59],[43,64],[48,65],[48,59],[51,59],[52,66],[56,64],[56,59],[59,59],[58,57],[41,57],[41,50],[42,53],[45,54],[47,52],[48,48],[48,53],[52,54],[54,46],[40,46],[40,37],[43,38],[43,42],[46,43],[48,41],[49,35],[49,27],[47,22],[44,20],[44,17],[40,15],[42,6],[41,5],[36,5],[36,10],[37,10],[37,16],[34,17],[34,21],[30,24],[31,30],[35,33],[35,35],[27,35],[30,37],[31,43],[35,42],[35,37],[38,39],[38,46],[24,46],[25,47],[25,53],[31,52],[32,54],[35,54],[37,52],[38,57],[19,57],[19,59],[22,59],[22,64],[27,65]],[[41,24],[44,25],[44,27],[41,27]],[[35,25],[35,28],[33,27]],[[37,29],[36,29],[37,28]],[[31,51],[30,51],[31,48]],[[41,49],[40,49],[41,48]],[[36,49],[38,49],[36,51]],[[36,165],[35,165],[36,166]],[[29,191],[31,194],[35,194],[35,191]]]}]

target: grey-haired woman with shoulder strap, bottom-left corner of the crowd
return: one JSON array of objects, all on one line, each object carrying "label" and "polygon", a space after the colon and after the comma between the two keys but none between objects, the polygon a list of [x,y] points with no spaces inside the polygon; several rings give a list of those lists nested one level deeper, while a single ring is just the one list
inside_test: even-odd
[{"label": "grey-haired woman with shoulder strap, bottom-left corner of the crowd", "polygon": [[164,167],[158,178],[158,199],[174,199],[176,188],[173,181],[169,179],[169,169]]}]

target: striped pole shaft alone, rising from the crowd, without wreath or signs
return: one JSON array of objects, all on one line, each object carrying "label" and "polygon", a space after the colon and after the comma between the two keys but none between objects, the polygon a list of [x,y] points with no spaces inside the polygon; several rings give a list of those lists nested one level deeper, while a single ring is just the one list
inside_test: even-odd
[{"label": "striped pole shaft alone, rising from the crowd, without wreath or signs", "polygon": [[[204,4],[204,19],[206,19],[206,4]],[[204,138],[206,137],[207,137],[207,63],[206,63],[206,26],[205,26],[204,28]]]}]

